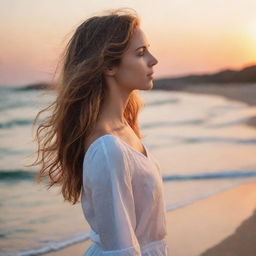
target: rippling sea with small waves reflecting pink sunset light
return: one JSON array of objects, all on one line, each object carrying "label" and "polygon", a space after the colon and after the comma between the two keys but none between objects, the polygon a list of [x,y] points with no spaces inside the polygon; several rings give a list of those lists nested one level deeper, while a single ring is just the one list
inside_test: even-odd
[{"label": "rippling sea with small waves reflecting pink sunset light", "polygon": [[[139,91],[142,140],[160,163],[167,211],[256,178],[256,107],[224,97]],[[32,121],[55,95],[0,87],[0,255],[42,255],[88,239],[80,204],[34,182]]]}]

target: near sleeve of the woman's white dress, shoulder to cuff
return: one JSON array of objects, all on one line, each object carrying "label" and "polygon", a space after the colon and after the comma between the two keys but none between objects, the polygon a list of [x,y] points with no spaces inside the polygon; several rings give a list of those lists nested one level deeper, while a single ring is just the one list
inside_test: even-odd
[{"label": "near sleeve of the woman's white dress, shoulder to cuff", "polygon": [[141,256],[129,163],[117,141],[99,141],[84,182],[91,192],[103,255]]}]

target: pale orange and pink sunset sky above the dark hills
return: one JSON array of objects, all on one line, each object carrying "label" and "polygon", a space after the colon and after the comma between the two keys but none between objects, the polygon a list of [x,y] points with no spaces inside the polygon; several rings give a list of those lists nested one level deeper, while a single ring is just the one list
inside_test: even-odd
[{"label": "pale orange and pink sunset sky above the dark hills", "polygon": [[255,0],[1,0],[0,85],[50,81],[73,30],[120,7],[141,18],[155,78],[256,64]]}]

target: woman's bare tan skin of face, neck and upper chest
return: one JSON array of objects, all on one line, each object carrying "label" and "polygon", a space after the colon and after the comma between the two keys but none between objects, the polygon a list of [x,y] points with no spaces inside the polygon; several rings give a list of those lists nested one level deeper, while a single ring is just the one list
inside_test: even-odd
[{"label": "woman's bare tan skin of face, neck and upper chest", "polygon": [[85,149],[88,149],[97,138],[112,134],[146,155],[140,139],[126,122],[123,113],[133,90],[150,90],[153,87],[152,77],[148,74],[153,72],[152,67],[158,61],[149,52],[148,46],[143,30],[137,27],[121,64],[104,71],[109,89],[108,95],[102,106],[96,129],[87,138]]}]

